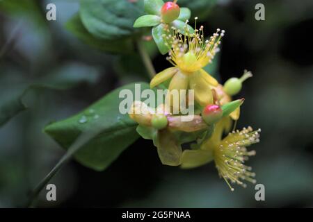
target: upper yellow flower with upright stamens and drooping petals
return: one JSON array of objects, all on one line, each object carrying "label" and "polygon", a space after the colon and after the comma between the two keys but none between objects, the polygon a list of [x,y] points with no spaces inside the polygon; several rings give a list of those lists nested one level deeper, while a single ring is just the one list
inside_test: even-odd
[{"label": "upper yellow flower with upright stamens and drooping petals", "polygon": [[[188,21],[187,21],[188,22]],[[166,45],[170,48],[167,60],[174,66],[154,76],[150,87],[156,87],[164,81],[170,80],[169,92],[172,89],[194,89],[195,101],[201,106],[213,104],[211,88],[218,85],[218,81],[210,76],[203,67],[207,66],[219,50],[220,38],[224,31],[218,29],[209,40],[204,40],[203,26],[195,28],[195,33],[189,33],[185,27],[182,31],[175,27],[166,29],[163,35]]]}]

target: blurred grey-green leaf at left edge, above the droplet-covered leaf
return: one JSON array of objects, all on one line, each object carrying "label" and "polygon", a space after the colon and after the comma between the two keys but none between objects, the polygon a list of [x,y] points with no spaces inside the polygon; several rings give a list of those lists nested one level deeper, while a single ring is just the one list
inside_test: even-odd
[{"label": "blurred grey-green leaf at left edge, above the droplet-covered leaf", "polygon": [[99,74],[93,67],[76,63],[67,64],[47,76],[30,81],[23,78],[2,78],[0,81],[0,126],[26,109],[24,94],[35,88],[70,89],[83,82],[95,83]]}]

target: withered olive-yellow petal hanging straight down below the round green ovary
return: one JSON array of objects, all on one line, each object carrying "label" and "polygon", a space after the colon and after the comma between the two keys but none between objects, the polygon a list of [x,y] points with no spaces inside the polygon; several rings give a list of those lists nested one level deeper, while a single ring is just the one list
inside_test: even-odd
[{"label": "withered olive-yellow petal hanging straight down below the round green ovary", "polygon": [[182,147],[169,130],[159,130],[157,135],[157,150],[164,165],[178,166],[182,156]]}]

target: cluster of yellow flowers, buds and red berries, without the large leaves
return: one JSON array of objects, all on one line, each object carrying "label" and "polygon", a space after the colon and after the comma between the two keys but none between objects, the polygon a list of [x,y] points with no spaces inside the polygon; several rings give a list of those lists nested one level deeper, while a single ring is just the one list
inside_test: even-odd
[{"label": "cluster of yellow flowers, buds and red berries, without the large leaves", "polygon": [[[185,19],[184,26],[173,25],[173,21],[180,17],[176,1],[163,3],[161,0],[147,0],[146,10],[152,3],[154,6],[158,4],[159,9],[154,12],[160,18],[158,21],[161,25],[158,27],[162,29],[154,40],[166,46],[167,60],[172,67],[161,71],[150,82],[151,88],[161,85],[167,87],[164,104],[152,109],[139,101],[133,103],[129,116],[138,123],[137,132],[143,138],[153,140],[163,164],[191,169],[214,161],[219,176],[231,190],[231,183],[243,187],[246,187],[244,180],[255,183],[255,173],[245,162],[248,157],[255,155],[255,151],[248,151],[247,147],[259,142],[260,130],[252,130],[250,126],[231,130],[233,121],[238,121],[240,117],[240,107],[244,101],[232,101],[232,96],[241,91],[243,81],[252,74],[245,70],[241,78],[230,78],[224,85],[218,83],[204,67],[220,50],[225,31],[218,28],[211,37],[205,38],[204,27],[197,28],[198,17],[195,17],[195,28],[192,29],[188,19]],[[138,26],[138,21],[135,24]],[[172,103],[173,90],[184,90],[179,95],[183,97],[179,99],[180,102],[188,105],[195,103],[191,121],[182,121],[186,114],[179,109],[179,114],[173,114],[172,110],[177,106]],[[187,98],[186,92],[189,90],[194,92],[194,101]],[[188,144],[190,148],[183,151],[182,144]]]}]

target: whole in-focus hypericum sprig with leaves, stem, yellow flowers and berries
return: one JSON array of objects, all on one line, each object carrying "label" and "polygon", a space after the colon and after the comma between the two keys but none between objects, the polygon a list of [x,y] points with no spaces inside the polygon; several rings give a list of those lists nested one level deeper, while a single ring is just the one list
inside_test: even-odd
[{"label": "whole in-focus hypericum sprig with leaves, stem, yellow flowers and berries", "polygon": [[[230,182],[243,186],[243,180],[255,182],[255,173],[250,172],[245,161],[255,155],[255,151],[248,151],[247,147],[259,142],[260,130],[248,127],[239,131],[235,129],[236,122],[232,130],[232,123],[238,121],[244,101],[232,101],[232,96],[240,92],[243,81],[252,74],[245,71],[241,78],[230,78],[221,85],[205,71],[218,53],[225,31],[218,29],[206,38],[204,27],[197,28],[198,17],[195,17],[195,28],[191,28],[188,25],[191,11],[180,8],[177,1],[144,0],[148,15],[141,17],[138,1],[80,2],[80,12],[70,19],[67,28],[88,44],[106,52],[123,54],[119,58],[126,62],[119,63],[120,69],[127,62],[130,65],[123,68],[134,68],[133,60],[138,51],[152,80],[150,84],[124,85],[78,114],[49,123],[45,133],[67,153],[31,197],[34,198],[71,157],[86,167],[102,171],[140,136],[153,141],[162,164],[191,169],[214,161],[220,177],[232,190]],[[152,27],[152,37],[159,51],[168,53],[167,60],[172,65],[159,74],[155,74],[143,44],[145,32],[136,31],[136,28],[148,26]],[[134,41],[138,46],[136,52]],[[125,94],[121,92],[136,94],[136,85],[142,90],[165,87],[168,89],[165,101],[152,108],[139,98],[131,103],[128,113],[122,113],[121,99]],[[179,94],[178,103],[172,103],[175,91]],[[194,93],[194,100],[189,92]],[[194,105],[194,112],[182,112],[184,105]],[[182,145],[186,146],[184,150]]]}]

